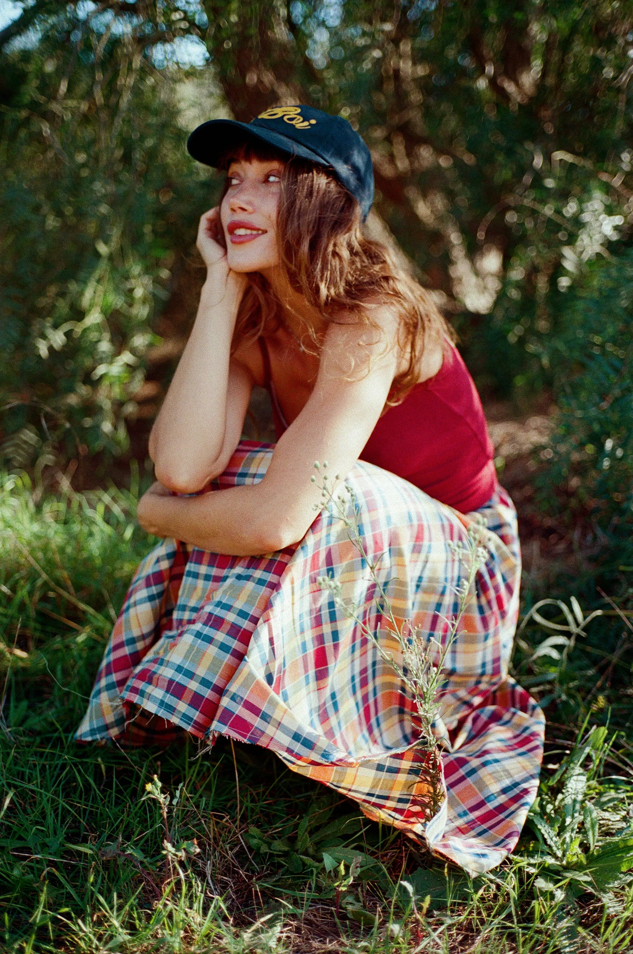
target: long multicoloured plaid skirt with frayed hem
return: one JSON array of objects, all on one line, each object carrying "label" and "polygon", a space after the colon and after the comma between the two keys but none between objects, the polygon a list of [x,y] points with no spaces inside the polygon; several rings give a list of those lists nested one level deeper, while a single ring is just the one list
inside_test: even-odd
[{"label": "long multicoloured plaid skirt with frayed hem", "polygon": [[[215,487],[260,481],[272,449],[243,441]],[[416,638],[446,642],[468,575],[454,544],[475,515],[362,461],[347,483],[369,559],[382,554],[377,573],[396,619],[411,620]],[[444,663],[434,731],[445,798],[432,819],[411,693],[318,582],[335,576],[345,602],[389,642],[367,564],[327,509],[299,544],[264,556],[163,540],[138,567],[76,737],[143,744],[185,730],[262,745],[472,874],[495,867],[536,798],[544,719],[508,676],[515,508],[499,487],[475,514],[488,558]]]}]

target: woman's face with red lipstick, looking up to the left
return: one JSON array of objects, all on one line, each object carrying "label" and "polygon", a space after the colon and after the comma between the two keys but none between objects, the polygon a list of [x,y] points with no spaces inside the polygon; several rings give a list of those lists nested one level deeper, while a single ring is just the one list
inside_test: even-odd
[{"label": "woman's face with red lipstick, looking up to the left", "polygon": [[226,259],[235,272],[264,272],[279,264],[277,212],[284,164],[279,159],[236,159],[220,219]]}]

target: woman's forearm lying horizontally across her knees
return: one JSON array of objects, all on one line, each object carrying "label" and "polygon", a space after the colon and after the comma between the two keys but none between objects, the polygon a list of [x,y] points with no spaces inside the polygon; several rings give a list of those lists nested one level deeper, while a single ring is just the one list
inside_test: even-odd
[{"label": "woman's forearm lying horizontally across her knees", "polygon": [[[316,513],[310,512],[314,519]],[[230,556],[259,556],[283,550],[298,542],[309,527],[306,523],[305,529],[296,529],[292,513],[264,481],[195,497],[150,492],[139,501],[137,516],[141,526],[156,536]]]}]

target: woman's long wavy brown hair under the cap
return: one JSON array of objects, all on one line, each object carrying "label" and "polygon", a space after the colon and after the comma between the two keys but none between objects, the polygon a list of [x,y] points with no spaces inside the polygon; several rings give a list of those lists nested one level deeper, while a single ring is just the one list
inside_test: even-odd
[{"label": "woman's long wavy brown hair under the cap", "polygon": [[[453,330],[429,292],[398,267],[390,250],[363,235],[358,202],[326,168],[288,158],[257,140],[247,140],[228,151],[222,168],[228,170],[236,159],[252,158],[278,158],[284,163],[277,228],[280,258],[290,286],[328,321],[352,313],[363,324],[377,328],[370,309],[363,305],[390,304],[397,309],[397,343],[408,363],[393,379],[387,404],[399,404],[417,383],[427,335],[454,340]],[[227,190],[228,178],[222,198]],[[246,340],[273,333],[283,323],[281,302],[268,282],[257,272],[248,279],[233,350]],[[306,327],[306,333],[316,344],[313,329]]]}]

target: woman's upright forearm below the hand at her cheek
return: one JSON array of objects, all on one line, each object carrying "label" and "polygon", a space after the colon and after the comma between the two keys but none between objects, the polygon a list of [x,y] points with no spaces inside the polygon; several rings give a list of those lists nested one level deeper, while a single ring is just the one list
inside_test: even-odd
[{"label": "woman's upright forearm below the hand at her cheek", "polygon": [[[224,441],[231,339],[243,293],[240,280],[207,279],[189,341],[150,437],[158,479],[186,486],[217,459]],[[184,488],[177,486],[176,488]]]}]

